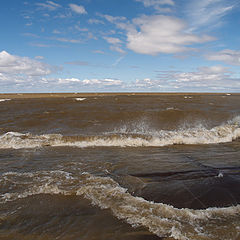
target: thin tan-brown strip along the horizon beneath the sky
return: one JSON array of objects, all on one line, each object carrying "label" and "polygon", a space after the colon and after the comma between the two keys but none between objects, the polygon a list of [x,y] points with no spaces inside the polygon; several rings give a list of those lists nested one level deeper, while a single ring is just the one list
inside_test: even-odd
[{"label": "thin tan-brown strip along the horizon beneath the sky", "polygon": [[176,92],[112,92],[112,93],[1,93],[0,98],[74,98],[74,97],[96,97],[96,96],[128,96],[128,95],[136,95],[136,96],[163,96],[163,95],[174,95],[174,96],[182,96],[182,95],[192,95],[192,96],[200,96],[200,95],[240,95],[240,93],[176,93]]}]

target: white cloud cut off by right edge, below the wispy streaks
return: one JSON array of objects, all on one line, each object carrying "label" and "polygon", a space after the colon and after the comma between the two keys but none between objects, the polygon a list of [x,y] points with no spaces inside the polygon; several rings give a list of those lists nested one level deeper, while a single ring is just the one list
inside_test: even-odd
[{"label": "white cloud cut off by right edge, below the wispy streaks", "polygon": [[219,52],[209,53],[205,57],[210,61],[222,61],[230,65],[240,66],[240,51],[224,49]]}]

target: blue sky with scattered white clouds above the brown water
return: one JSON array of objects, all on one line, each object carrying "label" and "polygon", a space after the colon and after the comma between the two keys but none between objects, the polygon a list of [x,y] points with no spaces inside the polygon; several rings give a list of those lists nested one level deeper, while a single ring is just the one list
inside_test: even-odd
[{"label": "blue sky with scattered white clouds above the brown water", "polygon": [[240,92],[239,0],[2,0],[0,93]]}]

